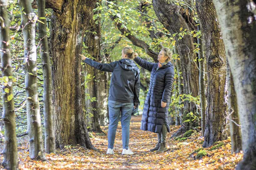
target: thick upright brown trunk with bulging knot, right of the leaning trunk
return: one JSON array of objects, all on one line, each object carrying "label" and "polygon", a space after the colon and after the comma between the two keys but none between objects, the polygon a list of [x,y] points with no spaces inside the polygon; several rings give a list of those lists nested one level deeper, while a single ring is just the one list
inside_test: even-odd
[{"label": "thick upright brown trunk with bulging knot, right of the leaning trunk", "polygon": [[197,0],[196,9],[200,18],[205,45],[208,76],[207,108],[203,147],[227,139],[226,56],[218,16],[212,0]]}]

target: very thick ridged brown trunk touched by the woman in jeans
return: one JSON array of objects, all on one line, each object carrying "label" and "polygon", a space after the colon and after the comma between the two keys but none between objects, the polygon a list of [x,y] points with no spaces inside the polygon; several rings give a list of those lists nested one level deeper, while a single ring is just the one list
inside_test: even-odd
[{"label": "very thick ridged brown trunk touched by the woman in jeans", "polygon": [[56,144],[60,148],[80,144],[96,149],[91,144],[85,122],[85,89],[79,56],[95,3],[96,0],[68,0],[62,11],[52,14],[53,105]]}]

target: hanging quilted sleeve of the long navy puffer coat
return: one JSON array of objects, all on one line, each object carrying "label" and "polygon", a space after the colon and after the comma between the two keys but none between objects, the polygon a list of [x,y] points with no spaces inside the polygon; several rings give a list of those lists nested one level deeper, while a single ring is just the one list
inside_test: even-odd
[{"label": "hanging quilted sleeve of the long navy puffer coat", "polygon": [[174,70],[173,68],[171,68],[165,74],[165,90],[162,96],[162,102],[166,103],[170,101],[173,80],[174,80]]}]

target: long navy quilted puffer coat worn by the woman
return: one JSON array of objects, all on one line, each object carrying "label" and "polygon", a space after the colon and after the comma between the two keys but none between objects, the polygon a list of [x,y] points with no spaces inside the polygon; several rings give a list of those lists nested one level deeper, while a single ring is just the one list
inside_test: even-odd
[{"label": "long navy quilted puffer coat worn by the woman", "polygon": [[[147,62],[140,57],[136,57],[134,61],[140,67],[151,72],[150,86],[144,103],[140,129],[160,133],[162,126],[166,124],[168,132],[170,132],[168,108],[174,80],[172,63],[167,62],[157,70],[158,63]],[[166,102],[165,108],[161,107],[161,101]]]}]

